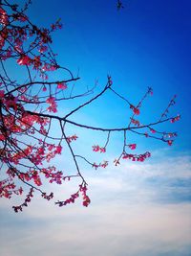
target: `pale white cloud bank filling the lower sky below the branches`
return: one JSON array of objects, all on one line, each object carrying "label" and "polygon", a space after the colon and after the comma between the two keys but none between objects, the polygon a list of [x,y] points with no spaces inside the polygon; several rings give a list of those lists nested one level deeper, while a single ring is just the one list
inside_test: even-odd
[{"label": "pale white cloud bank filling the lower sky below the branches", "polygon": [[[124,162],[118,168],[84,172],[92,199],[88,208],[81,206],[80,199],[74,205],[59,208],[34,198],[24,213],[15,215],[2,201],[0,253],[5,256],[189,255],[190,200],[182,198],[174,203],[168,200],[175,192],[181,197],[185,193],[181,190],[184,183],[172,187],[171,182],[190,178],[189,156],[142,165]],[[159,182],[148,182],[150,178]],[[67,184],[66,189],[53,187],[57,190],[56,197],[67,198],[69,189],[74,191],[76,184]],[[186,184],[185,189],[190,195]],[[167,200],[163,203],[159,197]]]}]

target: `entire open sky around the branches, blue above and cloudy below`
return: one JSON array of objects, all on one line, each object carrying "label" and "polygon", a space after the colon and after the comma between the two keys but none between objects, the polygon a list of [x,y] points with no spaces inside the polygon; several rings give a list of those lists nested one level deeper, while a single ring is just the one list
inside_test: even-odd
[{"label": "entire open sky around the branches, blue above and cloudy below", "polygon": [[[123,162],[97,172],[82,165],[92,199],[88,208],[80,202],[57,208],[36,197],[30,208],[15,215],[12,201],[1,199],[0,254],[4,256],[191,253],[191,3],[124,0],[123,5],[117,12],[115,0],[48,0],[46,4],[39,0],[33,1],[28,13],[42,26],[61,17],[64,26],[53,35],[53,49],[63,65],[79,74],[76,91],[94,86],[97,79],[97,92],[110,74],[117,92],[137,104],[151,85],[154,95],[140,109],[142,122],[156,121],[177,94],[171,113],[180,114],[181,120],[165,128],[178,131],[179,137],[172,147],[130,137],[139,151],[152,152],[152,158],[143,164]],[[74,105],[60,105],[59,111]],[[74,119],[115,128],[125,126],[129,114],[129,106],[108,93]],[[92,145],[103,143],[106,134],[73,131],[80,137],[76,151],[97,157],[89,151]],[[104,155],[111,162],[121,151],[121,138],[115,134]],[[63,156],[56,164],[71,167],[70,159]],[[64,188],[47,185],[47,189],[57,198],[67,198],[76,184],[67,183]]]}]

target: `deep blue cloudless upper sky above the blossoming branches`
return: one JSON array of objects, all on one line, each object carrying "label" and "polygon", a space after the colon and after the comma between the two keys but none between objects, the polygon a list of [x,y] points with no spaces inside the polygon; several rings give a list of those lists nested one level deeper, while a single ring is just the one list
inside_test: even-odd
[{"label": "deep blue cloudless upper sky above the blossoming branches", "polygon": [[[34,2],[30,14],[42,25],[61,17],[63,30],[55,33],[53,49],[61,63],[79,74],[80,90],[93,86],[96,79],[99,90],[105,85],[107,74],[111,74],[117,92],[136,104],[147,86],[152,85],[154,97],[144,105],[143,120],[158,118],[177,94],[178,105],[172,108],[172,114],[180,113],[183,120],[175,128],[181,131],[177,149],[189,150],[189,1],[125,1],[121,12],[117,12],[115,0],[55,3],[52,6],[51,1],[46,5],[43,1]],[[41,10],[46,13],[44,18]],[[114,104],[117,111],[106,120],[110,112],[108,103]],[[107,125],[111,120],[109,125],[124,124],[127,110],[113,95],[107,94],[103,101],[84,111],[93,115],[97,108],[104,108],[101,112],[105,113],[96,116],[97,122]]]}]

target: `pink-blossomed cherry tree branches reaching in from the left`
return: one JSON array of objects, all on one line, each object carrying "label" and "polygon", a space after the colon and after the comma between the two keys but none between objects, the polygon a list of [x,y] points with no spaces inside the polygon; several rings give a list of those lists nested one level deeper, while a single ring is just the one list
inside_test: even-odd
[{"label": "pink-blossomed cherry tree branches reaching in from the left", "polygon": [[[173,96],[157,120],[153,120],[151,116],[151,121],[144,124],[143,111],[140,114],[140,108],[147,97],[153,95],[151,87],[140,96],[138,105],[132,105],[128,98],[118,93],[119,89],[115,89],[112,76],[105,76],[105,84],[98,84],[96,81],[96,86],[92,89],[80,91],[80,86],[76,86],[79,88],[76,90],[75,83],[79,78],[68,67],[57,62],[57,54],[52,49],[53,32],[62,27],[60,19],[49,28],[37,26],[26,14],[30,4],[31,1],[22,9],[19,5],[2,0],[0,7],[0,160],[3,174],[0,180],[0,198],[23,198],[27,195],[20,205],[12,207],[18,213],[29,206],[34,194],[47,200],[54,198],[53,192],[44,191],[47,188],[46,182],[50,186],[64,186],[66,182],[76,179],[79,181],[77,189],[68,198],[55,201],[55,204],[61,207],[73,204],[80,198],[81,204],[87,207],[91,199],[87,195],[88,184],[81,162],[84,161],[90,170],[97,170],[97,173],[108,168],[106,150],[108,151],[110,142],[114,140],[113,134],[117,132],[122,139],[120,149],[115,149],[119,151],[119,156],[115,156],[112,163],[116,166],[122,159],[143,162],[151,156],[149,151],[129,153],[130,150],[137,150],[137,144],[127,142],[131,142],[131,134],[172,146],[178,133],[171,130],[163,132],[159,129],[159,124],[180,120],[180,115],[170,116],[170,109],[176,104],[177,96]],[[10,72],[10,63],[14,65],[12,68],[15,72]],[[24,74],[19,79],[13,75],[17,69]],[[123,122],[122,127],[116,127],[115,124],[111,128],[101,125],[96,127],[84,124],[80,118],[75,119],[79,112],[83,116],[85,107],[91,107],[93,102],[103,99],[101,97],[107,93],[112,93],[114,97],[124,101],[132,110],[131,117],[120,120],[121,124]],[[82,98],[81,104],[77,100],[79,98]],[[68,104],[70,100],[73,100],[74,105]],[[66,106],[64,110],[61,103]],[[58,107],[59,104],[61,107]],[[110,110],[112,117],[112,109]],[[136,115],[138,120],[134,118]],[[126,124],[127,120],[129,124]],[[92,137],[87,137],[85,144],[81,143],[81,136],[78,138],[80,129],[92,132]],[[152,134],[149,135],[149,131]],[[93,138],[96,140],[96,132],[101,133],[104,144],[91,148]],[[84,152],[85,149],[87,152]],[[100,154],[91,154],[91,149]],[[74,167],[59,166],[60,155],[71,159]],[[106,160],[101,158],[103,155]],[[96,160],[94,157],[101,159]]]}]

